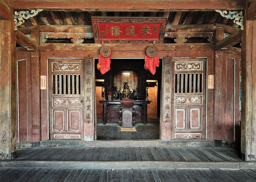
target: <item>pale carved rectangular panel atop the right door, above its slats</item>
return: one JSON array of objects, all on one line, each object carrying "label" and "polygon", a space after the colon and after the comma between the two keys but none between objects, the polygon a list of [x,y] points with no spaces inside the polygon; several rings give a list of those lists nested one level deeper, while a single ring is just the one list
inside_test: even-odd
[{"label": "pale carved rectangular panel atop the right door, above its slats", "polygon": [[175,70],[202,71],[203,70],[203,62],[175,62]]}]

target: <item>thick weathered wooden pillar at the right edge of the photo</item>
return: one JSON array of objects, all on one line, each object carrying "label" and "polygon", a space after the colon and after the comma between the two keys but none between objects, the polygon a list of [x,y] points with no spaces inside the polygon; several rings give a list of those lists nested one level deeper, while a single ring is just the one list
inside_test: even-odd
[{"label": "thick weathered wooden pillar at the right edge of the photo", "polygon": [[[247,10],[247,8],[246,8]],[[255,13],[255,11],[254,11]],[[256,20],[247,20],[242,32],[241,157],[256,161]]]}]

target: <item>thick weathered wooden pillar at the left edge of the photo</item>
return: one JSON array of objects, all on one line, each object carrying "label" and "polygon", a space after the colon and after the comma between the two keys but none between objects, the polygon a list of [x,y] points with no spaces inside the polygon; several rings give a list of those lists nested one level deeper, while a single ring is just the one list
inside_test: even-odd
[{"label": "thick weathered wooden pillar at the left edge of the photo", "polygon": [[16,150],[15,37],[13,18],[0,20],[0,160]]}]

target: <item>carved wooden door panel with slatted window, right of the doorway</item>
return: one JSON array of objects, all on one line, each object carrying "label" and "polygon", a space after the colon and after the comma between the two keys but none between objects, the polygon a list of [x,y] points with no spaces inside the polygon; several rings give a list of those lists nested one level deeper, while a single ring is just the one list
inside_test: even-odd
[{"label": "carved wooden door panel with slatted window, right of the doorway", "polygon": [[204,139],[206,60],[173,59],[172,138]]}]

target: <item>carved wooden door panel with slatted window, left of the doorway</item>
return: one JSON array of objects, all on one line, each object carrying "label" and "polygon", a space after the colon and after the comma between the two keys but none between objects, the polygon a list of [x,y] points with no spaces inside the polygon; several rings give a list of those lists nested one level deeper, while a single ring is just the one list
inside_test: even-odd
[{"label": "carved wooden door panel with slatted window, left of the doorway", "polygon": [[49,60],[50,139],[83,139],[83,59]]}]

